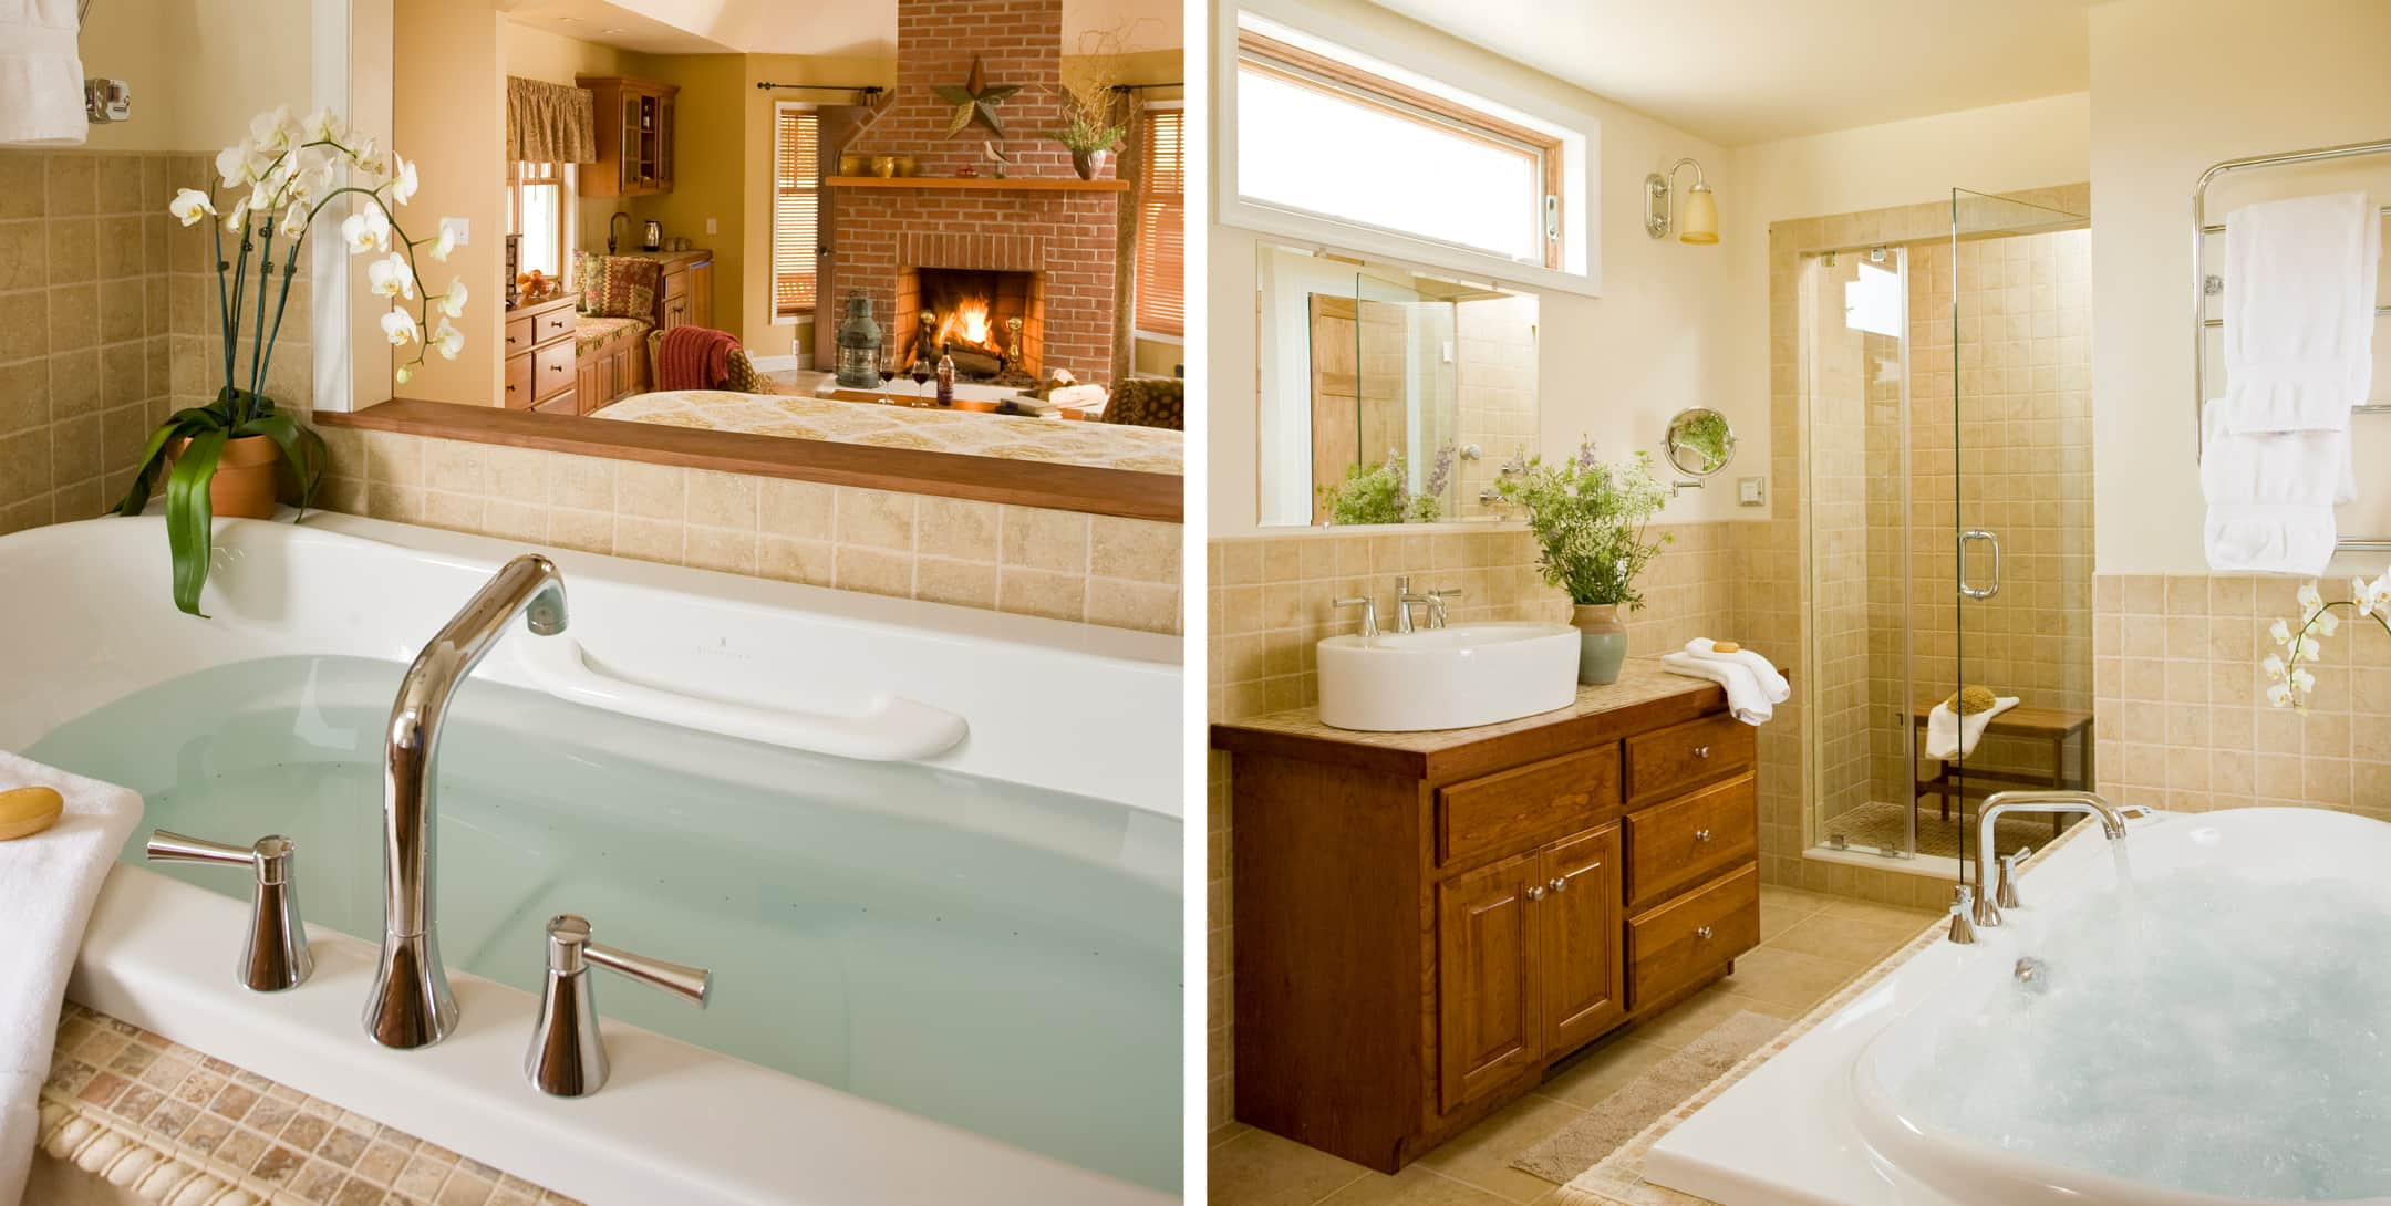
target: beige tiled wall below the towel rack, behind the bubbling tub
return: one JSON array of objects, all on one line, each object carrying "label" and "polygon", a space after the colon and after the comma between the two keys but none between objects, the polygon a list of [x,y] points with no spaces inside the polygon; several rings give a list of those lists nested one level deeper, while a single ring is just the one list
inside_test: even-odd
[{"label": "beige tiled wall below the towel rack, behind the bubbling tub", "polygon": [[[2329,599],[2346,590],[2326,583]],[[2343,623],[2322,642],[2307,709],[2269,707],[2267,626],[2298,616],[2295,592],[2291,578],[2095,580],[2104,793],[2188,812],[2307,805],[2391,819],[2391,635]]]}]

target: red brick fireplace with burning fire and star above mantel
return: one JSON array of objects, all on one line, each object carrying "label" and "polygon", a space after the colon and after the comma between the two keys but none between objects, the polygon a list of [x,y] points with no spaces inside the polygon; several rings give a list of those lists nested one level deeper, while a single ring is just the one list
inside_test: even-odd
[{"label": "red brick fireplace with burning fire and star above mantel", "polygon": [[[995,136],[985,127],[947,139],[954,110],[935,88],[964,84],[973,55],[987,84],[1021,86],[997,107],[1009,179],[995,179],[985,155]],[[990,308],[1002,310],[995,342],[1004,351],[1014,337],[1002,320],[1021,320],[1021,358],[1009,368],[1105,380],[1124,193],[1112,179],[1081,181],[1069,150],[1045,139],[1059,122],[1059,86],[1062,0],[897,0],[897,88],[834,150],[913,155],[921,177],[825,181],[832,256],[823,296],[870,296],[887,346],[904,358],[925,346],[925,308],[937,310],[959,284],[983,284]],[[823,160],[837,162],[837,153]]]}]

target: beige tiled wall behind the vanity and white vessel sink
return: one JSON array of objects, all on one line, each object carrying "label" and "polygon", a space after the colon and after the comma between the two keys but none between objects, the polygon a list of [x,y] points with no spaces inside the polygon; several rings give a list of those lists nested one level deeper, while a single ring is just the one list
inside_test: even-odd
[{"label": "beige tiled wall behind the vanity and white vessel sink", "polygon": [[[1741,578],[1741,533],[1748,523],[1681,523],[1657,528],[1671,537],[1645,571],[1645,609],[1628,619],[1628,652],[1650,657],[1695,635],[1736,633],[1733,599]],[[1525,530],[1437,530],[1215,540],[1207,549],[1210,650],[1207,712],[1215,721],[1320,702],[1313,647],[1353,633],[1360,616],[1334,611],[1329,599],[1368,595],[1392,616],[1394,580],[1413,590],[1461,587],[1454,621],[1568,619],[1568,597],[1535,571],[1535,537]],[[1767,733],[1762,728],[1762,733]],[[1207,1127],[1231,1122],[1231,917],[1229,917],[1229,757],[1212,752],[1205,774],[1205,917]]]}]

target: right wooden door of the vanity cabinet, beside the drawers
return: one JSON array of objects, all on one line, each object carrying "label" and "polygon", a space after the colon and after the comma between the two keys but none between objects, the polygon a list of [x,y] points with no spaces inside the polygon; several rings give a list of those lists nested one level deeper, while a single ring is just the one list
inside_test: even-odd
[{"label": "right wooden door of the vanity cabinet, beside the drawers", "polygon": [[1545,848],[1540,876],[1547,1056],[1568,1051],[1619,1025],[1628,1013],[1621,958],[1619,824],[1590,829]]}]

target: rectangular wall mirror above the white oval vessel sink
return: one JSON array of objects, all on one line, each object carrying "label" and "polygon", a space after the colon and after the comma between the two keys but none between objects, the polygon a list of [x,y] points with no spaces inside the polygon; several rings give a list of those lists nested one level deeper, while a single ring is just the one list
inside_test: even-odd
[{"label": "rectangular wall mirror above the white oval vessel sink", "polygon": [[1262,525],[1504,518],[1502,466],[1537,447],[1537,299],[1255,248]]}]

